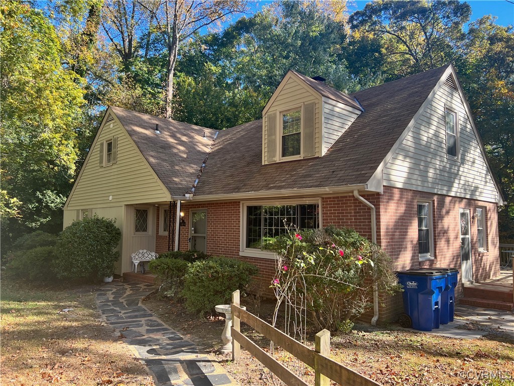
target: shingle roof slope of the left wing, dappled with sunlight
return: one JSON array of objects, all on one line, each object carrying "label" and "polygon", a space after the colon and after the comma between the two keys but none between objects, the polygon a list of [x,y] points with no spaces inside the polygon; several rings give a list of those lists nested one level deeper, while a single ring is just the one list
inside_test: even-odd
[{"label": "shingle roof slope of the left wing, dappled with sunlight", "polygon": [[[191,190],[216,130],[111,106],[172,196]],[[160,134],[155,133],[159,124]],[[203,139],[205,135],[207,139]]]}]

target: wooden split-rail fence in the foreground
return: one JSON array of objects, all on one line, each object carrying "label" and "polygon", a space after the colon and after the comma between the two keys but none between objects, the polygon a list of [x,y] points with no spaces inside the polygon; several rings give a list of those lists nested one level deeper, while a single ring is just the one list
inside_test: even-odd
[{"label": "wooden split-rail fence in the foreground", "polygon": [[240,292],[238,290],[232,293],[231,308],[232,360],[236,361],[240,358],[242,345],[287,386],[308,386],[303,379],[291,372],[287,367],[268,355],[261,347],[247,338],[241,332],[241,322],[244,322],[271,340],[275,345],[282,347],[286,352],[295,356],[307,366],[312,367],[314,369],[316,386],[329,386],[329,379],[332,379],[342,386],[380,386],[379,383],[328,358],[330,355],[330,331],[323,330],[318,332],[315,338],[315,348],[311,349],[297,340],[292,339],[277,328],[274,328],[262,319],[259,319],[252,313],[243,310],[241,308]]}]

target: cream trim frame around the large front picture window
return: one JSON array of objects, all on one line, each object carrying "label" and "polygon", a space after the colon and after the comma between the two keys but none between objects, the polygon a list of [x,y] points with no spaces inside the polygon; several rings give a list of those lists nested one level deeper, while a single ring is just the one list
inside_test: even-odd
[{"label": "cream trim frame around the large front picture window", "polygon": [[322,199],[317,198],[303,198],[303,199],[285,199],[285,200],[258,200],[258,201],[241,201],[240,208],[240,248],[239,254],[246,257],[259,257],[265,259],[275,259],[276,256],[273,252],[262,251],[260,249],[246,247],[246,208],[252,205],[301,205],[301,204],[317,204],[318,205],[318,229],[323,228],[323,210]]}]

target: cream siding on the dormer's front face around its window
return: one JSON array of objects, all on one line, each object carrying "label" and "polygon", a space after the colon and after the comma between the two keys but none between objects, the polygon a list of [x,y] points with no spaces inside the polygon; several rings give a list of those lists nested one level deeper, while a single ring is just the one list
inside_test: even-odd
[{"label": "cream siding on the dormer's front face around its window", "polygon": [[[277,89],[277,95],[274,95],[272,104],[267,109],[267,114],[276,112],[277,114],[277,144],[280,144],[281,126],[281,113],[287,110],[300,108],[303,104],[315,102],[315,154],[321,155],[321,97],[316,96],[314,92],[308,90],[307,86],[301,84],[298,80],[289,77],[285,84]],[[265,116],[264,116],[265,118]],[[302,124],[303,125],[303,124]],[[267,119],[263,119],[263,163],[267,164],[268,161],[268,136],[267,136]],[[277,160],[280,161],[281,148],[277,145]]]}]

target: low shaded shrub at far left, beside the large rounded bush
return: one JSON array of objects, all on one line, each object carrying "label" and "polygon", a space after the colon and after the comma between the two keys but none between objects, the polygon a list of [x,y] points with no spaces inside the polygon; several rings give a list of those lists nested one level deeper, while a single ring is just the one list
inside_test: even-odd
[{"label": "low shaded shrub at far left, beside the large rounded bush", "polygon": [[56,247],[36,247],[16,252],[7,266],[7,272],[31,282],[45,282],[55,277],[53,272]]}]

